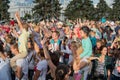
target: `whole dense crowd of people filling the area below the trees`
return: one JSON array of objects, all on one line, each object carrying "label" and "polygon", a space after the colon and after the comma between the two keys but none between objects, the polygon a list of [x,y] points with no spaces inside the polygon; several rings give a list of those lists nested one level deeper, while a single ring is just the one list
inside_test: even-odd
[{"label": "whole dense crowd of people filling the area below the trees", "polygon": [[120,80],[120,22],[0,24],[0,80]]}]

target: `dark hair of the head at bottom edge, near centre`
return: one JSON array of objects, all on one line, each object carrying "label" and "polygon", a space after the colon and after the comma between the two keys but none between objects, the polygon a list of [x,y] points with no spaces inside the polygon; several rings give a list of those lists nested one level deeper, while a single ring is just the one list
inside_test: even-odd
[{"label": "dark hair of the head at bottom edge, near centre", "polygon": [[59,65],[55,71],[56,80],[65,80],[66,74],[69,73],[69,67],[66,65]]}]

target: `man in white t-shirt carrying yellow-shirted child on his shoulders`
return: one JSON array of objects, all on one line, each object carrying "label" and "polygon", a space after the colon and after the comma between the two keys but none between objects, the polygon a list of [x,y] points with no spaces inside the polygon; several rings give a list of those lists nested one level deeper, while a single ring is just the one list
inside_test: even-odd
[{"label": "man in white t-shirt carrying yellow-shirted child on his shoulders", "polygon": [[[19,53],[18,45],[11,44],[11,52],[16,56]],[[26,59],[18,59],[16,61],[16,80],[28,80],[28,61]]]}]

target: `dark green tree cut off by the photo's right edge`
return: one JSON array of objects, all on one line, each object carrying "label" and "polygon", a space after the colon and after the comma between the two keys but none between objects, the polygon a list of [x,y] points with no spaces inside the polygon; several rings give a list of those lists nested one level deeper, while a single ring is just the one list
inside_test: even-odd
[{"label": "dark green tree cut off by the photo's right edge", "polygon": [[120,20],[120,0],[114,0],[112,18],[113,20]]}]

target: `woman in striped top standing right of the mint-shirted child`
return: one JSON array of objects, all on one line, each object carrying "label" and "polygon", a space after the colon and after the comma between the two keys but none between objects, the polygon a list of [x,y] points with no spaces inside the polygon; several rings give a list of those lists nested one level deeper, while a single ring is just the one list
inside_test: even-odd
[{"label": "woman in striped top standing right of the mint-shirted child", "polygon": [[107,63],[107,47],[102,46],[101,47],[101,54],[97,55],[99,58],[95,61],[95,73],[94,73],[94,79],[95,80],[107,80],[107,69],[106,66]]}]

